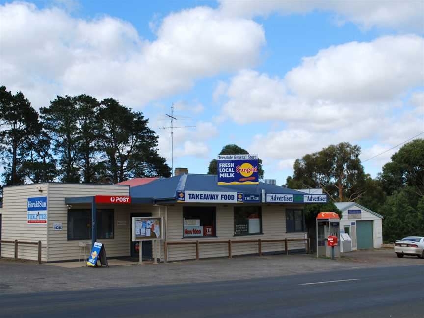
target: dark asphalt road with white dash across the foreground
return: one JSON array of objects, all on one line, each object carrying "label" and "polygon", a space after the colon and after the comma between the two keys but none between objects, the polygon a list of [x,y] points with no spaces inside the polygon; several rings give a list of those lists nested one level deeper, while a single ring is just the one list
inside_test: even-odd
[{"label": "dark asphalt road with white dash across the foreground", "polygon": [[424,317],[424,266],[0,296],[0,317]]}]

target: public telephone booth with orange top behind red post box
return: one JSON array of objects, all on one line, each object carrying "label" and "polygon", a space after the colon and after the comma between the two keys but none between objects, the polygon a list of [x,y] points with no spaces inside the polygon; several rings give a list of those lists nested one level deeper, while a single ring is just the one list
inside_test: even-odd
[{"label": "public telephone booth with orange top behind red post box", "polygon": [[[337,237],[340,242],[339,231],[340,218],[335,212],[320,212],[317,215],[317,257],[331,257],[331,246],[328,246],[327,239],[329,236]],[[340,257],[340,244],[334,246],[335,257]]]}]

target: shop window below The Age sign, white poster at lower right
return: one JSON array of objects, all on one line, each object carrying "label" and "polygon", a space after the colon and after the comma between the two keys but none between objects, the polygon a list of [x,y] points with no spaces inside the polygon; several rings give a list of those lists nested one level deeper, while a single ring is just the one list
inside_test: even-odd
[{"label": "shop window below The Age sign, white poster at lower right", "polygon": [[234,207],[234,235],[262,234],[261,207]]}]

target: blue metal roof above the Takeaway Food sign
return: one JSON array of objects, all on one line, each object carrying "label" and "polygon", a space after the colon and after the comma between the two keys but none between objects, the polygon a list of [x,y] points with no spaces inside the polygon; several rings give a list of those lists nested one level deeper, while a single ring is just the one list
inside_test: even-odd
[{"label": "blue metal roof above the Takeaway Food sign", "polygon": [[217,185],[216,175],[183,174],[171,178],[155,180],[147,185],[134,186],[130,188],[130,196],[168,199],[174,198],[177,190],[260,194],[263,189],[266,193],[305,194],[303,192],[278,185],[266,184],[264,182],[260,182],[258,185]]}]

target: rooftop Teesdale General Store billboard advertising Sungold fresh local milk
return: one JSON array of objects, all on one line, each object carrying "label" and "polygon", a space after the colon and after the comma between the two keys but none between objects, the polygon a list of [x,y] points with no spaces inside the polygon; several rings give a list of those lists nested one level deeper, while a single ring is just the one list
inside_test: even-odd
[{"label": "rooftop Teesdale General Store billboard advertising Sungold fresh local milk", "polygon": [[218,155],[218,185],[257,185],[258,155]]}]

